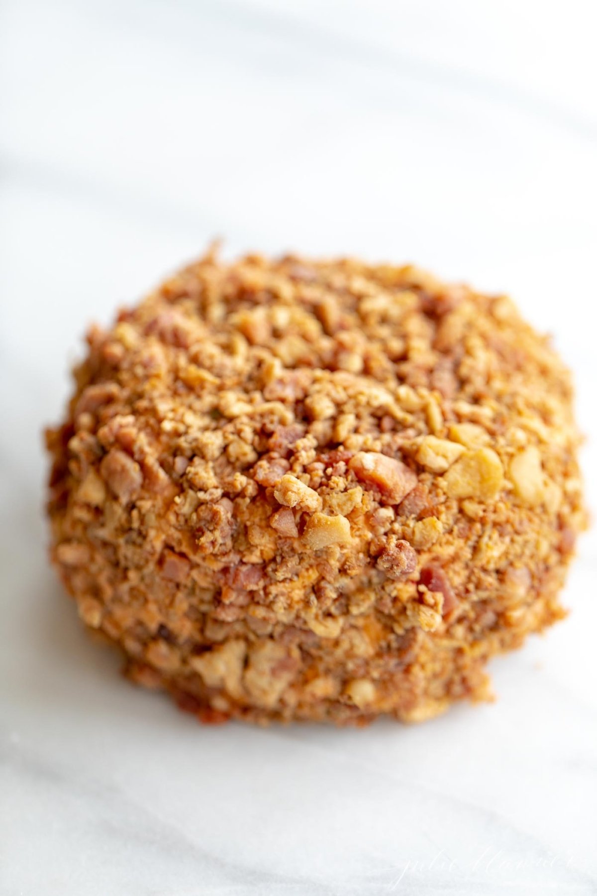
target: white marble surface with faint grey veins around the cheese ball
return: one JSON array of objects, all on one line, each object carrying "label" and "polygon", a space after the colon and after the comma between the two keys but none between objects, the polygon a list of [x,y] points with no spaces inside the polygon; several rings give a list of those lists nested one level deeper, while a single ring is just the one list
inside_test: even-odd
[{"label": "white marble surface with faint grey veins around the cheese ball", "polygon": [[215,234],[509,290],[576,370],[595,506],[593,4],[4,0],[0,893],[597,892],[597,541],[572,613],[422,727],[201,728],[45,558],[67,362]]}]

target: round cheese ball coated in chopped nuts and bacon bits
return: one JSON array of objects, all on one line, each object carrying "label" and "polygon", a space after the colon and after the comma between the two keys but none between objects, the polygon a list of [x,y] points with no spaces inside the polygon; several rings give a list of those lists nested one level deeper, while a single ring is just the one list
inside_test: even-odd
[{"label": "round cheese ball coated in chopped nuts and bacon bits", "polygon": [[52,558],[200,719],[428,719],[564,616],[570,380],[507,297],[211,253],[88,343],[47,433]]}]

